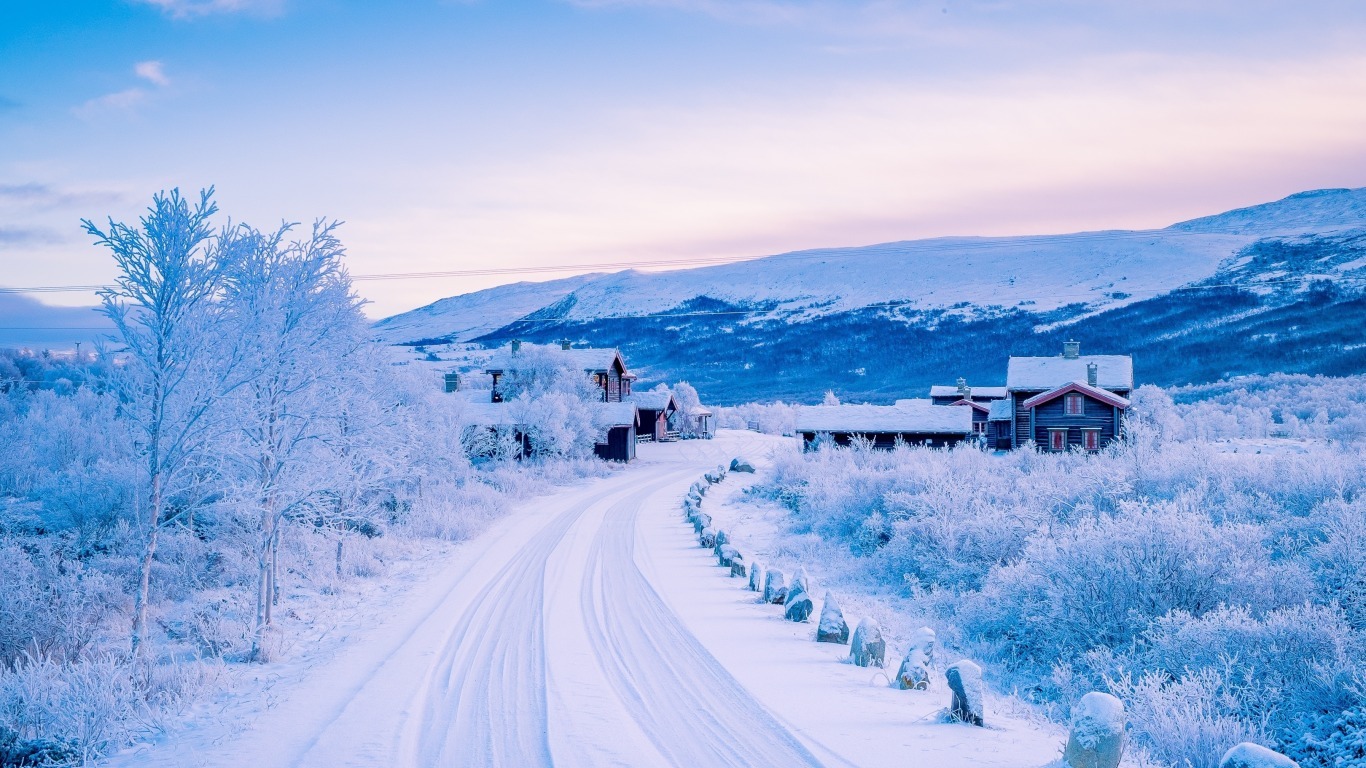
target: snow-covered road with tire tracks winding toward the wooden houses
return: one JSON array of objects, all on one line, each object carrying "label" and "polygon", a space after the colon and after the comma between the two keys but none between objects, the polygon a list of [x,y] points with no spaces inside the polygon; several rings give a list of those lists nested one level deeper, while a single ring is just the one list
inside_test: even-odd
[{"label": "snow-covered road with tire tracks winding toward the wooden houses", "polygon": [[[687,486],[772,445],[740,432],[642,445],[632,466],[525,504],[393,604],[367,605],[372,627],[239,723],[112,763],[798,767],[936,752],[904,735],[921,715],[907,707],[914,693],[873,689],[833,646],[794,641],[795,625],[768,616],[688,541]],[[727,635],[732,625],[753,634]],[[850,728],[851,716],[873,722]],[[889,728],[904,738],[887,741]],[[1019,735],[975,731],[977,757]],[[1046,757],[1052,739],[1026,753]]]}]

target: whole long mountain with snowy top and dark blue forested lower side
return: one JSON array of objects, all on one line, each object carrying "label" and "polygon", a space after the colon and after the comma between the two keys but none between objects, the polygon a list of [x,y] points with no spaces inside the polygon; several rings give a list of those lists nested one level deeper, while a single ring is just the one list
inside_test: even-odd
[{"label": "whole long mountain with snowy top and dark blue forested lower side", "polygon": [[568,336],[712,402],[891,400],[1075,336],[1161,384],[1366,369],[1366,189],[1300,193],[1165,230],[940,238],[673,272],[518,283],[376,324],[393,344]]}]

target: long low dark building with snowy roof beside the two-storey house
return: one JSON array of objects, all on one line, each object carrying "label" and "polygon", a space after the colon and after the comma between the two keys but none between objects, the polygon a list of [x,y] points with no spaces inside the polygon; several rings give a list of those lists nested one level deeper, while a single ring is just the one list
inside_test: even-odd
[{"label": "long low dark building with snowy roof beside the two-storey house", "polygon": [[971,409],[945,409],[926,400],[895,406],[803,406],[796,414],[802,445],[811,450],[821,440],[848,445],[866,440],[874,448],[897,444],[943,448],[973,435]]}]

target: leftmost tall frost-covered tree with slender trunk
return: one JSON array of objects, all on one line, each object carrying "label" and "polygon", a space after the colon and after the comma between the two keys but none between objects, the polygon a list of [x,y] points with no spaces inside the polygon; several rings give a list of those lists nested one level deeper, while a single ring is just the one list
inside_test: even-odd
[{"label": "leftmost tall frost-covered tree with slender trunk", "polygon": [[112,384],[131,425],[142,477],[137,493],[142,553],[134,593],[131,645],[142,649],[158,533],[198,503],[206,447],[219,425],[212,410],[235,385],[239,347],[227,340],[220,306],[221,265],[236,238],[214,235],[213,190],[191,202],[179,190],[160,193],[137,225],[83,220],[109,249],[117,276],[102,290],[101,310],[113,323]]}]

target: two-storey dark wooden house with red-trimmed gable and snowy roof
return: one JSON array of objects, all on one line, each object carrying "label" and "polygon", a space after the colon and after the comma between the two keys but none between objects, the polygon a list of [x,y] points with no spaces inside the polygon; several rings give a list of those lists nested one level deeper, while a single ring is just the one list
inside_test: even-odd
[{"label": "two-storey dark wooden house with red-trimmed gable and snowy roof", "polygon": [[1065,342],[1059,357],[1012,357],[1005,373],[1012,448],[1098,451],[1120,435],[1134,389],[1128,355],[1082,355]]}]

